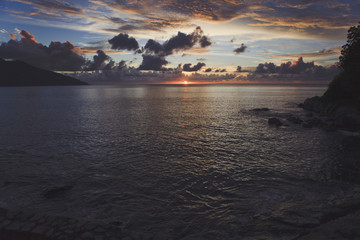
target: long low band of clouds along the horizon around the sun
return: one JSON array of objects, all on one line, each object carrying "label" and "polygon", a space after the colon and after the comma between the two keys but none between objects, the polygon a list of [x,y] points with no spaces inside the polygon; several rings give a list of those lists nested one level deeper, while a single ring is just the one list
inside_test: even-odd
[{"label": "long low band of clouds along the horizon around the sun", "polygon": [[[276,65],[272,62],[260,63],[254,71],[243,70],[237,66],[235,72],[226,69],[206,68],[201,73],[193,71],[202,64],[195,66],[185,64],[182,68],[167,71],[139,71],[125,65],[119,70],[75,72],[71,76],[89,82],[121,82],[121,83],[161,83],[179,82],[182,79],[197,83],[329,83],[340,72],[336,65],[326,67],[314,62],[304,62],[299,57],[293,62]],[[189,74],[184,74],[184,68]]]}]

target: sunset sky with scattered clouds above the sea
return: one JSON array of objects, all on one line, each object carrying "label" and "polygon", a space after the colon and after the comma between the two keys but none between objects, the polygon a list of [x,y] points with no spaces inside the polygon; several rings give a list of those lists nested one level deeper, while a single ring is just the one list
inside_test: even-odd
[{"label": "sunset sky with scattered clouds above the sea", "polygon": [[104,81],[328,82],[359,20],[360,0],[0,0],[0,57],[117,70],[76,75]]}]

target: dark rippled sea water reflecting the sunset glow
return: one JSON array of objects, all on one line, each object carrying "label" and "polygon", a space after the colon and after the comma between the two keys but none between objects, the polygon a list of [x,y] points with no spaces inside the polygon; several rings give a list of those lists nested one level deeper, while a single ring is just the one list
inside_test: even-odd
[{"label": "dark rippled sea water reflecting the sunset glow", "polygon": [[0,88],[0,207],[154,238],[296,237],[360,194],[333,177],[341,133],[267,123],[325,89]]}]

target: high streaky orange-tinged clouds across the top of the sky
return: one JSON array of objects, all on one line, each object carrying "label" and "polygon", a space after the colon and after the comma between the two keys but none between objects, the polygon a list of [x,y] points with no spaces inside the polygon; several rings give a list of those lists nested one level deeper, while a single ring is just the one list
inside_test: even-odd
[{"label": "high streaky orange-tinged clouds across the top of the sky", "polygon": [[[94,32],[161,32],[190,26],[193,20],[223,23],[241,19],[257,28],[301,32],[323,38],[343,36],[358,21],[358,0],[12,0],[27,8],[6,9],[11,16],[39,22],[71,19]],[[123,18],[118,17],[119,13]],[[85,23],[85,24],[84,24]],[[80,28],[80,26],[79,26]],[[341,34],[339,34],[341,32]]]}]

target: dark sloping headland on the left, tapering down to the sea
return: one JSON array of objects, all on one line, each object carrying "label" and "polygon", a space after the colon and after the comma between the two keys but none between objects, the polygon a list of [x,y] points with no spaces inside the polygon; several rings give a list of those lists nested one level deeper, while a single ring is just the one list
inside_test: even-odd
[{"label": "dark sloping headland on the left, tapering down to the sea", "polygon": [[88,85],[78,79],[31,66],[22,61],[0,59],[0,86]]}]

